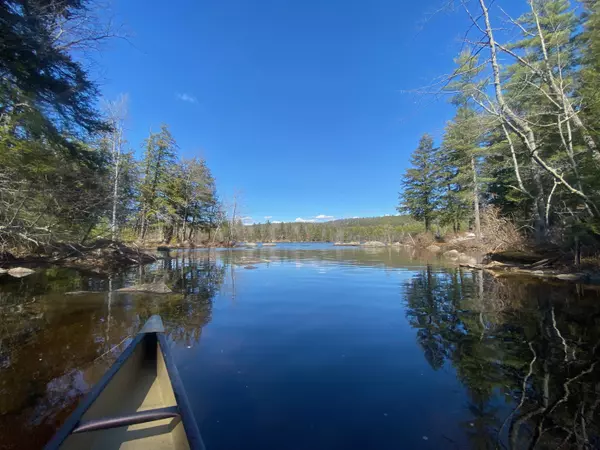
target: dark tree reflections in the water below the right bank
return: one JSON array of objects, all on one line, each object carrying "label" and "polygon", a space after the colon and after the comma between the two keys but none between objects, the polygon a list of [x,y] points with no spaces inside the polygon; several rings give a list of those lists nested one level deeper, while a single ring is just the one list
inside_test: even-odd
[{"label": "dark tree reflections in the water below the right bank", "polygon": [[426,360],[467,389],[473,448],[600,447],[596,290],[429,265],[405,288]]}]

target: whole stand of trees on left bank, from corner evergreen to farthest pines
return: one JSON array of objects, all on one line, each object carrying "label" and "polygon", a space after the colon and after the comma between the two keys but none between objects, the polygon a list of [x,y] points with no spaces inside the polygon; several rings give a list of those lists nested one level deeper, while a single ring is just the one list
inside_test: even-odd
[{"label": "whole stand of trees on left bank, from corner evergreen to farthest pines", "polygon": [[0,251],[93,237],[189,240],[218,226],[206,163],[178,158],[166,126],[136,160],[125,102],[98,106],[81,56],[112,33],[93,15],[85,0],[0,4]]}]

